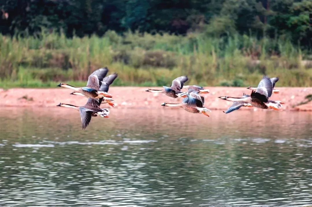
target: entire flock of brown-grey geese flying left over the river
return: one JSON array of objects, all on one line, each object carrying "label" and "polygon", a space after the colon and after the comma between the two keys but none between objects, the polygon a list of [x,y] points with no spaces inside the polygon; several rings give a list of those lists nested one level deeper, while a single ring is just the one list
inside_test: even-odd
[{"label": "entire flock of brown-grey geese flying left over the river", "polygon": [[[74,108],[79,111],[82,129],[85,129],[89,125],[91,117],[109,117],[110,111],[108,108],[100,108],[101,104],[109,104],[112,107],[115,106],[114,103],[112,103],[114,100],[112,99],[112,95],[108,93],[108,89],[117,78],[117,74],[113,73],[106,76],[107,73],[107,67],[94,71],[89,76],[87,85],[81,88],[76,88],[66,83],[60,83],[57,85],[59,87],[72,89],[73,92],[71,94],[73,95],[80,95],[88,98],[87,103],[84,106],[74,106],[64,103],[57,105],[60,107]],[[263,76],[258,87],[247,88],[252,90],[250,95],[243,94],[243,96],[238,98],[230,96],[218,97],[220,99],[233,102],[232,106],[230,106],[230,108],[228,108],[224,113],[230,113],[243,106],[282,111],[281,104],[284,104],[283,102],[269,100],[272,93],[279,93],[279,90],[274,89],[275,83],[278,80],[279,79],[277,77],[270,79],[267,76]],[[148,89],[146,91],[152,93],[164,93],[171,98],[183,98],[182,103],[173,104],[165,102],[161,104],[162,106],[180,107],[190,113],[202,113],[209,117],[210,115],[208,112],[211,112],[211,110],[204,107],[205,99],[200,94],[208,94],[210,91],[198,85],[184,85],[186,81],[188,81],[187,76],[180,76],[172,81],[170,87],[163,86],[163,90]],[[187,92],[181,91],[182,89],[186,89]]]}]

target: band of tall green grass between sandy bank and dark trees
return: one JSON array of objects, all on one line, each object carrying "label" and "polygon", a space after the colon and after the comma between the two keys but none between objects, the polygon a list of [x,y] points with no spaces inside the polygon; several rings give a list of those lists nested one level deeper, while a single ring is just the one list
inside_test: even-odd
[{"label": "band of tall green grass between sandy bank and dark trees", "polygon": [[234,34],[125,33],[108,31],[66,38],[45,32],[37,36],[0,35],[0,87],[49,87],[59,81],[86,81],[97,68],[117,72],[114,85],[168,85],[188,75],[189,84],[256,85],[261,77],[279,76],[278,86],[310,86],[311,51],[287,39],[257,39]]}]

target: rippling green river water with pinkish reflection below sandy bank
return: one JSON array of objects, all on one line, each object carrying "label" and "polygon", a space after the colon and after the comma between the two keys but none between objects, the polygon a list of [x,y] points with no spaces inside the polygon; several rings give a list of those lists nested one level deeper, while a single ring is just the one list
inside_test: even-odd
[{"label": "rippling green river water with pinkish reflection below sandy bank", "polygon": [[1,108],[1,206],[312,204],[311,113],[57,109]]}]

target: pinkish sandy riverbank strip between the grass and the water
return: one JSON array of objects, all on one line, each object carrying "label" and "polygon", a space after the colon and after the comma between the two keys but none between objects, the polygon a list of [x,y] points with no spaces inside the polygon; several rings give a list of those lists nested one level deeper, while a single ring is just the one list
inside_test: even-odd
[{"label": "pinkish sandy riverbank strip between the grass and the water", "polygon": [[[217,98],[220,95],[241,96],[243,93],[250,94],[251,90],[242,87],[206,87],[210,94],[203,94],[205,106],[209,109],[225,110],[232,103]],[[145,92],[147,87],[110,87],[109,93],[113,95],[116,108],[163,108],[161,103],[179,103],[181,99],[173,99],[160,93]],[[162,89],[156,87],[155,89]],[[299,87],[278,87],[279,94],[272,94],[272,100],[285,102],[284,110],[312,111],[312,101],[308,104],[293,107],[306,101],[305,96],[312,94],[312,88]],[[70,95],[71,90],[63,88],[52,89],[24,89],[12,88],[9,90],[0,89],[0,106],[4,107],[54,107],[60,102],[77,106],[84,105],[86,99]],[[102,105],[109,107],[108,104]],[[102,108],[103,108],[102,107]],[[245,108],[244,109],[249,109]],[[250,109],[249,109],[250,110]],[[258,110],[254,108],[254,110]],[[262,110],[262,109],[260,109]]]}]

